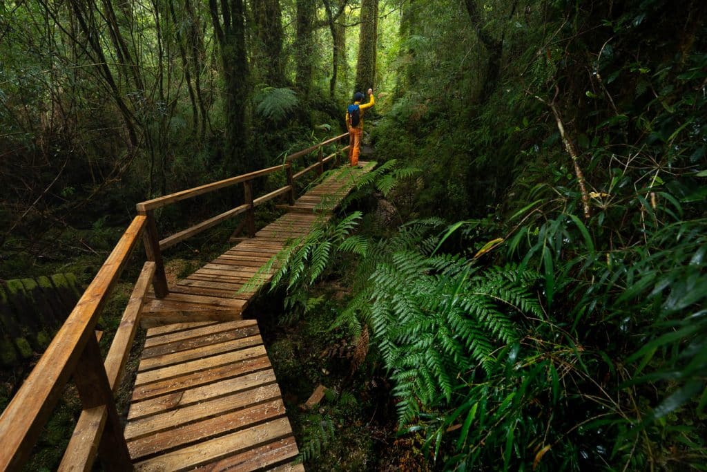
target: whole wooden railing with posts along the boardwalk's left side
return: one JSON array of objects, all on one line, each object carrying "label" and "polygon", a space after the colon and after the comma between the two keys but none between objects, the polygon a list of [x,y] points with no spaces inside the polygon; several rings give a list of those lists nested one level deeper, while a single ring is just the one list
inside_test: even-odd
[{"label": "whole wooden railing with posts along the boardwalk's left side", "polygon": [[[83,409],[59,470],[90,471],[97,454],[100,454],[103,465],[109,471],[131,470],[130,456],[115,406],[115,393],[124,374],[125,363],[139,323],[139,313],[150,285],[152,284],[156,297],[162,298],[168,294],[162,250],[242,213],[246,213],[248,234],[253,236],[255,208],[279,195],[287,195],[288,200],[293,203],[295,181],[315,169],[318,173],[322,173],[325,163],[332,161],[337,155],[334,153],[324,157],[324,146],[339,142],[347,136],[348,134],[341,134],[292,154],[281,166],[238,175],[139,203],[138,216],[132,220],[74,310],[66,318],[62,328],[54,336],[44,355],[2,413],[0,470],[14,471],[25,464],[71,376],[76,384]],[[346,149],[348,147],[339,151]],[[318,153],[317,162],[302,171],[293,173],[293,161],[314,151]],[[287,185],[267,195],[254,198],[252,180],[277,171],[286,172]],[[154,216],[155,209],[238,183],[244,185],[243,205],[160,241]],[[104,362],[94,332],[95,325],[141,236],[147,262],[135,284]]]}]

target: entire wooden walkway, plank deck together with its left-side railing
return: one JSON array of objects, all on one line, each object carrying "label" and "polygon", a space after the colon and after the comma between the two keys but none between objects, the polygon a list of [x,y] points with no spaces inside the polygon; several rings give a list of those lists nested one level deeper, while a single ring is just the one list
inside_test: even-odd
[{"label": "entire wooden walkway, plank deck together with its left-side railing", "polygon": [[[304,470],[295,460],[297,444],[257,322],[241,313],[271,279],[274,256],[325,224],[357,180],[375,167],[361,162],[324,173],[348,146],[326,157],[323,150],[344,137],[348,134],[292,154],[281,166],[137,205],[139,215],[4,410],[0,468],[16,470],[28,458],[59,391],[73,376],[83,410],[60,470],[89,470],[97,452],[105,468],[121,471]],[[294,172],[293,163],[312,153],[317,161]],[[287,185],[255,197],[252,181],[275,172],[286,173]],[[323,173],[322,178],[296,197],[296,181],[310,172]],[[155,209],[236,184],[244,185],[243,205],[159,240]],[[279,205],[284,216],[255,231],[255,207],[279,196],[286,200]],[[241,213],[245,237],[234,236],[226,253],[168,286],[162,251]],[[139,236],[147,262],[104,360],[93,329]],[[114,393],[138,324],[147,328],[146,339],[121,430]]]}]

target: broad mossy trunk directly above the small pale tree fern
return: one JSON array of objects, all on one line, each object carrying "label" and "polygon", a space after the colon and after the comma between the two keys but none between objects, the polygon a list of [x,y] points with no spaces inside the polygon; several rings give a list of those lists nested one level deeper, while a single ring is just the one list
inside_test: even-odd
[{"label": "broad mossy trunk directly above the small pale tree fern", "polygon": [[253,17],[260,57],[259,67],[267,84],[281,86],[285,83],[282,62],[282,9],[280,0],[253,0]]}]

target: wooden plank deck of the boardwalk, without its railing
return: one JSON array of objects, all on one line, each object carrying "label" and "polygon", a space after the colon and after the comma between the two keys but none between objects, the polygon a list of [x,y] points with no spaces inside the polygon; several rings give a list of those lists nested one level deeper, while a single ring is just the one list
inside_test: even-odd
[{"label": "wooden plank deck of the boardwalk, without its railing", "polygon": [[[280,389],[255,320],[254,293],[238,293],[259,268],[303,236],[375,167],[341,168],[287,205],[288,213],[178,281],[148,294],[148,327],[124,430],[140,471],[302,471]],[[269,282],[264,274],[259,286]]]}]

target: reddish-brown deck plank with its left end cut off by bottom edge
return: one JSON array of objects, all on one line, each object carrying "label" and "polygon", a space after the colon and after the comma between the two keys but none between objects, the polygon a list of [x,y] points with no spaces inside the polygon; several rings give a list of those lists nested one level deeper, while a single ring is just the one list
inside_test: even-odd
[{"label": "reddish-brown deck plank with its left end cut off by bottom edge", "polygon": [[[207,464],[206,466],[201,466],[194,469],[194,471],[199,472],[247,472],[247,471],[258,471],[262,470],[264,467],[269,467],[274,464],[278,464],[281,461],[286,461],[297,456],[297,444],[295,443],[295,438],[285,437],[279,439],[278,441],[271,442],[269,444],[264,444],[262,446],[256,447],[255,449],[250,449],[248,451],[243,451],[239,454],[233,456],[228,456],[216,464]],[[301,464],[297,466],[290,466],[283,468],[282,472],[286,471],[304,471],[304,468],[298,468]],[[276,466],[280,468],[283,466]],[[274,469],[269,469],[274,470]]]}]

